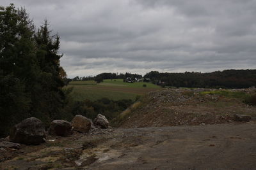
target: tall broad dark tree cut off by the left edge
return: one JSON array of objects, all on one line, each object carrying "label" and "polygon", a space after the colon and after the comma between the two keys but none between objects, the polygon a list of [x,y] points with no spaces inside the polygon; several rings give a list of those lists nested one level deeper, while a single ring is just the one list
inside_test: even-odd
[{"label": "tall broad dark tree cut off by the left edge", "polygon": [[13,4],[0,8],[0,134],[29,116],[29,82],[35,78],[33,24]]}]

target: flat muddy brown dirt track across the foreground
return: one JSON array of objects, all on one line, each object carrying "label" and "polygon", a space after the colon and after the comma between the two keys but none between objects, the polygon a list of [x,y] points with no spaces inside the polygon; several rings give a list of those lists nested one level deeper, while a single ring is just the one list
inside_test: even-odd
[{"label": "flat muddy brown dirt track across the foreground", "polygon": [[96,129],[22,145],[0,169],[255,169],[256,122]]}]

